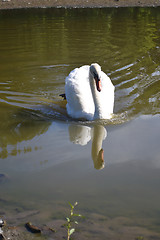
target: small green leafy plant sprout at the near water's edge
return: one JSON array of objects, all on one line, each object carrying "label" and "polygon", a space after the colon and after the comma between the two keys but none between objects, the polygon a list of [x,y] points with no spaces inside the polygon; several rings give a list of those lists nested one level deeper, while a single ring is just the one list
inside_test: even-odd
[{"label": "small green leafy plant sprout at the near water's edge", "polygon": [[67,229],[67,240],[70,240],[71,235],[76,231],[76,229],[72,225],[78,224],[78,222],[75,220],[75,217],[83,218],[83,216],[81,214],[74,213],[74,208],[78,205],[78,202],[75,202],[74,205],[72,205],[70,202],[68,204],[71,207],[70,215],[69,217],[66,217],[67,222],[64,224],[64,227]]}]

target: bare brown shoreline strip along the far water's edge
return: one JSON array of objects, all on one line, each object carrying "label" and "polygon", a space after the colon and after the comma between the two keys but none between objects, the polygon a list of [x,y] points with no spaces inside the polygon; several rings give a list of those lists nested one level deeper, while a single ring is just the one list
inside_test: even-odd
[{"label": "bare brown shoreline strip along the far water's edge", "polygon": [[0,10],[21,8],[159,7],[160,0],[0,0]]}]

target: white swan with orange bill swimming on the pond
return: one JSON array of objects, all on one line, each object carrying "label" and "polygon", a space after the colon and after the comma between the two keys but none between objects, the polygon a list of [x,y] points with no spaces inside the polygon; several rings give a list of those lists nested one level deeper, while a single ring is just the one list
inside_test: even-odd
[{"label": "white swan with orange bill swimming on the pond", "polygon": [[109,119],[113,113],[114,86],[97,63],[70,72],[65,79],[67,113],[77,119]]}]

